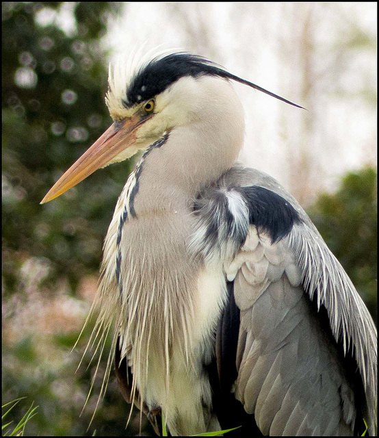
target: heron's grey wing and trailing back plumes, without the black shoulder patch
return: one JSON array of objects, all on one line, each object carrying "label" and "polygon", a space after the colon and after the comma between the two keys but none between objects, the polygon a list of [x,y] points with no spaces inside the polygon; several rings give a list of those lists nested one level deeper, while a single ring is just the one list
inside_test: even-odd
[{"label": "heron's grey wing and trailing back plumes, without the black shoulder patch", "polygon": [[[357,403],[374,434],[376,329],[363,301],[304,210],[277,181],[235,166],[217,183],[224,193],[245,185],[283,196],[300,222],[274,244],[269,232],[257,233],[250,225],[228,267],[241,310],[237,399],[263,435],[351,435]],[[320,307],[328,312],[334,339],[317,318]],[[337,344],[344,355],[354,350],[366,400],[356,399]]]}]

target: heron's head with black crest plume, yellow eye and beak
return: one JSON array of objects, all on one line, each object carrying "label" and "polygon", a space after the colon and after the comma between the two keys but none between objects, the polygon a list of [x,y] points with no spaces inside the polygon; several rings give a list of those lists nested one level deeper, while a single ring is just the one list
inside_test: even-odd
[{"label": "heron's head with black crest plume, yellow eye and beak", "polygon": [[[62,175],[41,203],[60,196],[95,170],[146,149],[172,129],[200,120],[212,123],[215,114],[224,118],[233,112],[241,114],[229,79],[295,105],[190,53],[159,55],[136,66],[118,62],[113,69],[109,67],[105,101],[114,123]],[[219,118],[218,123],[222,125],[224,120]]]}]

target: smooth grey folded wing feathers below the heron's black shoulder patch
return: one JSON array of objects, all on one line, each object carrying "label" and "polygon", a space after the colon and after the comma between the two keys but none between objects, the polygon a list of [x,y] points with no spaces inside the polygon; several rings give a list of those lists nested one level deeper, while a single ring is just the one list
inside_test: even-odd
[{"label": "smooth grey folded wing feathers below the heron's black shoulder patch", "polygon": [[354,387],[287,245],[254,235],[237,257],[237,399],[263,435],[352,435]]}]

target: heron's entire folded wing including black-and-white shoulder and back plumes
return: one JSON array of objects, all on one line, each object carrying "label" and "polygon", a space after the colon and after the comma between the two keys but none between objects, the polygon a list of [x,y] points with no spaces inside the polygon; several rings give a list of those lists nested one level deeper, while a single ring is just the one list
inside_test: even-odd
[{"label": "heron's entire folded wing including black-and-white shoulder and back plumes", "polygon": [[232,391],[263,435],[353,435],[363,418],[375,435],[376,329],[300,205],[274,179],[235,167],[197,207],[202,252],[225,259],[240,311]]}]

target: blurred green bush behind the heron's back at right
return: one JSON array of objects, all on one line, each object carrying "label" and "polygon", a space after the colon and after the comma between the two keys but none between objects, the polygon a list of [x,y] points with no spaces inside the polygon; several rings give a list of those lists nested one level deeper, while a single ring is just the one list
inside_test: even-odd
[{"label": "blurred green bush behind the heron's back at right", "polygon": [[322,194],[308,210],[377,321],[377,172],[349,172],[335,194]]}]

